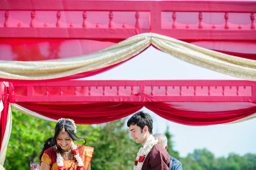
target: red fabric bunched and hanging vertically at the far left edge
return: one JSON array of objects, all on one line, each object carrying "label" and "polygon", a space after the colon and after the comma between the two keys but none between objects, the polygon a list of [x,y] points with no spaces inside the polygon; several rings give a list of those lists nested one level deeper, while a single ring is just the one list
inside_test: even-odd
[{"label": "red fabric bunched and hanging vertically at the far left edge", "polygon": [[7,101],[7,87],[3,82],[0,82],[0,97],[3,101],[3,110],[1,111],[1,124],[0,124],[0,151],[2,147],[2,141],[3,141],[3,136],[6,128],[6,122],[7,122],[7,113],[8,113],[8,101]]}]

